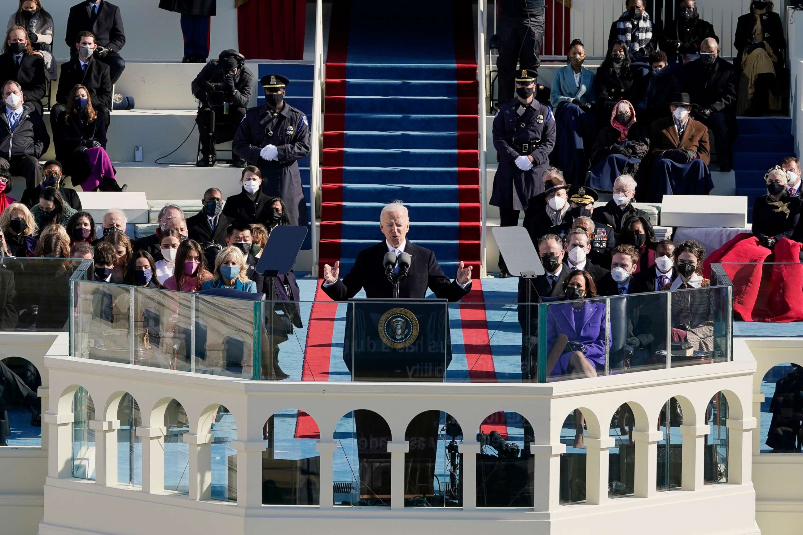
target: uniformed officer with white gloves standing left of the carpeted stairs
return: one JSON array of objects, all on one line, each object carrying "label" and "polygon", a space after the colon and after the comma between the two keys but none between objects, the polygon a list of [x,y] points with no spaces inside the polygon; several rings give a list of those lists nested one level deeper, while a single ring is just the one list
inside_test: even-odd
[{"label": "uniformed officer with white gloves standing left of the carpeted stairs", "polygon": [[309,154],[309,123],[303,112],[284,102],[290,80],[266,75],[263,106],[252,107],[234,134],[234,154],[262,172],[262,191],[281,197],[296,225],[306,226],[307,201],[301,187],[298,160]]}]

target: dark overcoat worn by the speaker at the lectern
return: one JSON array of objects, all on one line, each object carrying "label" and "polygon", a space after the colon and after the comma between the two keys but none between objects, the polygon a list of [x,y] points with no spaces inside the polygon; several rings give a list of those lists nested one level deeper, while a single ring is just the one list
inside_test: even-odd
[{"label": "dark overcoat worn by the speaker at the lectern", "polygon": [[[393,298],[393,285],[385,277],[385,268],[382,267],[382,259],[387,252],[385,241],[361,250],[349,274],[331,286],[322,286],[324,292],[335,301],[347,301],[363,288],[369,299]],[[413,262],[410,273],[399,284],[400,298],[423,299],[426,298],[426,289],[430,288],[435,297],[457,302],[471,290],[471,286],[463,289],[457,282],[450,281],[443,274],[441,266],[435,260],[435,253],[430,249],[419,247],[408,240],[405,252],[410,253]]]}]

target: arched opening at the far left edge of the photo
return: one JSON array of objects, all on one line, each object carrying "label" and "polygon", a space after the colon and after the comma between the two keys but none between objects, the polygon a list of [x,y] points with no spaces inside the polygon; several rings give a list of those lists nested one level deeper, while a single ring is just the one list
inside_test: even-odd
[{"label": "arched opening at the far left edge of the photo", "polygon": [[27,359],[0,360],[0,446],[42,446],[39,370]]}]

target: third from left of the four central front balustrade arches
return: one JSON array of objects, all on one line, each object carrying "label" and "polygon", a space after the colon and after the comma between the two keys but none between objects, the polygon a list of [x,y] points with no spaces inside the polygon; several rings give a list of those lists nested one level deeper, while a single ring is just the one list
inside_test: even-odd
[{"label": "third from left of the four central front balustrade arches", "polygon": [[457,419],[443,411],[424,411],[407,424],[405,440],[405,506],[462,507],[458,444],[463,429]]}]

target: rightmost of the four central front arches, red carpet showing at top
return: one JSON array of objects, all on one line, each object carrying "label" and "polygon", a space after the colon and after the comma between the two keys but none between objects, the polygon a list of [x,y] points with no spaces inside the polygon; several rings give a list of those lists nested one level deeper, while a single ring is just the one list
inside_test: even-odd
[{"label": "rightmost of the four central front arches, red carpet showing at top", "polygon": [[532,425],[518,412],[500,411],[479,426],[477,507],[535,505]]}]

